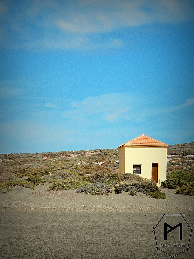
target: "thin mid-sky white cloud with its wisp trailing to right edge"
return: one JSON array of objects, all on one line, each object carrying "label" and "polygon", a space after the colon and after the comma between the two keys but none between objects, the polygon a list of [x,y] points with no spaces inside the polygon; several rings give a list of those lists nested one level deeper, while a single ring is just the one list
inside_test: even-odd
[{"label": "thin mid-sky white cloud with its wisp trailing to right edge", "polygon": [[[193,98],[180,106],[158,106],[149,102],[146,96],[128,93],[111,93],[95,97],[87,97],[81,102],[72,102],[70,108],[62,113],[65,118],[74,121],[106,121],[113,123],[119,120],[143,123],[146,119],[154,120],[172,114],[175,110],[194,103]],[[97,122],[96,122],[97,123]]]}]

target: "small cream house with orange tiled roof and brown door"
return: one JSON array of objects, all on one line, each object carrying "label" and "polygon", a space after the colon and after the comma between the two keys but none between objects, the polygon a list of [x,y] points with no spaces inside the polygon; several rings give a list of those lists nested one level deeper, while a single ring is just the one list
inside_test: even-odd
[{"label": "small cream house with orange tiled roof and brown door", "polygon": [[161,185],[166,180],[167,146],[144,134],[118,146],[119,172],[138,174]]}]

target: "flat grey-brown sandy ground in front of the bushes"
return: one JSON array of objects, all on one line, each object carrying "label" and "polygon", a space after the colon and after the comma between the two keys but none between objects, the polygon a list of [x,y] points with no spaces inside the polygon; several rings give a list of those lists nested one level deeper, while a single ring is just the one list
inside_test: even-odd
[{"label": "flat grey-brown sandy ground in front of the bushes", "polygon": [[[164,189],[167,199],[159,200],[126,192],[92,196],[47,188],[0,193],[0,258],[170,258],[155,248],[152,230],[161,214],[183,213],[194,226],[194,197],[174,190]],[[171,218],[175,226],[175,216]],[[171,255],[181,250],[168,248]],[[194,234],[190,249],[175,258],[194,258]]]}]

